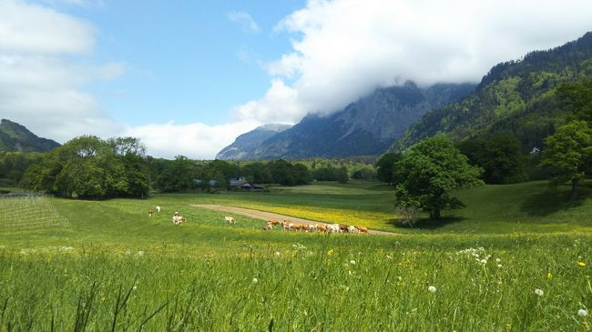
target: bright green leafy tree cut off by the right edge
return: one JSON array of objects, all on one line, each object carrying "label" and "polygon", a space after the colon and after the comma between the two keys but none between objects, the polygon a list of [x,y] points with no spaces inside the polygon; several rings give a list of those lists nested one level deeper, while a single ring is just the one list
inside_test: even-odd
[{"label": "bright green leafy tree cut off by the right edge", "polygon": [[569,122],[546,137],[542,165],[551,168],[554,181],[571,181],[575,199],[580,180],[592,171],[592,128],[587,122]]}]

